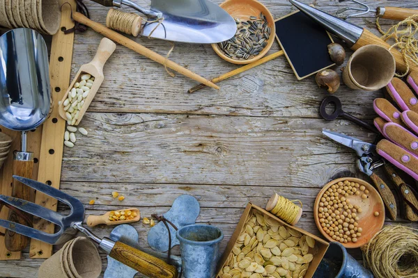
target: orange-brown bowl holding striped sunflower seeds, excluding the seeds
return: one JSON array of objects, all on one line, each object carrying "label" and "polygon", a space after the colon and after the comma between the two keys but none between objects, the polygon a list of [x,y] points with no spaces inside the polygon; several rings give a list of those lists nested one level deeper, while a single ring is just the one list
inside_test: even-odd
[{"label": "orange-brown bowl holding striped sunflower seeds, excluding the seeds", "polygon": [[258,16],[260,13],[263,13],[267,18],[268,26],[271,28],[270,38],[267,42],[265,48],[257,56],[248,59],[248,60],[235,60],[227,57],[224,52],[219,49],[217,44],[212,44],[212,49],[215,50],[216,54],[219,55],[222,59],[228,61],[229,63],[237,65],[245,65],[253,63],[256,60],[259,60],[267,54],[274,43],[274,38],[276,34],[276,26],[274,25],[274,18],[268,8],[256,1],[256,0],[226,0],[224,3],[221,3],[219,7],[226,10],[226,13],[229,13],[233,18],[239,18],[241,21],[249,20],[251,15]]}]

